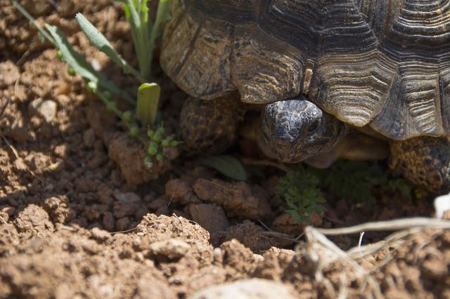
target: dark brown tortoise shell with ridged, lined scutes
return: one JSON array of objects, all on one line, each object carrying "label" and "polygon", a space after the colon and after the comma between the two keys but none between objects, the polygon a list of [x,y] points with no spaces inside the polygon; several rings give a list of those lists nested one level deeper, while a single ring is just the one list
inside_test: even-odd
[{"label": "dark brown tortoise shell with ridged, lined scutes", "polygon": [[448,0],[178,0],[160,60],[205,100],[303,93],[394,140],[450,135]]}]

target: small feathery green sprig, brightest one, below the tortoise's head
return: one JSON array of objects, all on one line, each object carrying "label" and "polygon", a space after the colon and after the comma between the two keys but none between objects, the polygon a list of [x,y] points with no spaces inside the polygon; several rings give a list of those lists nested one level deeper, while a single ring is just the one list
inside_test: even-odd
[{"label": "small feathery green sprig, brightest one, below the tortoise's head", "polygon": [[276,196],[285,199],[288,209],[297,223],[309,221],[311,213],[321,213],[325,198],[319,189],[319,177],[302,165],[295,167],[278,180]]}]

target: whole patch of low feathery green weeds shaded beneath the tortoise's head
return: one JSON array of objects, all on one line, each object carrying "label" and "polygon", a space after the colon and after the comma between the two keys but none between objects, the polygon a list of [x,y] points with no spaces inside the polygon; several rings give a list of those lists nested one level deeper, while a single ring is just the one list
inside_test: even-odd
[{"label": "whole patch of low feathery green weeds shaded beneath the tortoise's head", "polygon": [[288,204],[286,213],[297,222],[308,220],[308,215],[323,211],[323,194],[319,187],[331,194],[357,203],[373,204],[373,187],[389,192],[400,192],[411,199],[411,185],[403,178],[390,178],[380,164],[366,161],[339,160],[327,169],[298,164],[278,181],[276,196]]}]

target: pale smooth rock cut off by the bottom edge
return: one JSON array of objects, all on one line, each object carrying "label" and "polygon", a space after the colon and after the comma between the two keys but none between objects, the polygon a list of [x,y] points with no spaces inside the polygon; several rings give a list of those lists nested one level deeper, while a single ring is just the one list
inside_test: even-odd
[{"label": "pale smooth rock cut off by the bottom edge", "polygon": [[280,282],[268,279],[247,279],[219,284],[195,293],[190,299],[271,299],[298,298],[295,291]]}]

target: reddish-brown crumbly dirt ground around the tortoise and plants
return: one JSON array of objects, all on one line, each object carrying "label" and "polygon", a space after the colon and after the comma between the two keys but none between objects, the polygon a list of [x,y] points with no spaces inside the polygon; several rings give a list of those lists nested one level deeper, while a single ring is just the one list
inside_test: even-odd
[{"label": "reddish-brown crumbly dirt ground around the tortoise and plants", "polygon": [[[89,45],[73,18],[84,13],[136,65],[119,2],[21,3],[134,93],[136,82]],[[158,65],[155,81],[167,130],[176,133],[187,95]],[[320,250],[301,237],[307,224],[297,225],[274,196],[282,171],[232,182],[173,150],[150,173],[123,128],[0,0],[0,298],[188,298],[252,278],[275,281],[293,298],[450,298],[450,232],[418,230],[357,259],[358,267],[319,267]],[[432,216],[430,198],[373,194],[375,205],[329,194],[326,212],[308,224]],[[386,236],[367,232],[364,244]],[[330,237],[344,250],[358,238]]]}]

